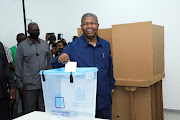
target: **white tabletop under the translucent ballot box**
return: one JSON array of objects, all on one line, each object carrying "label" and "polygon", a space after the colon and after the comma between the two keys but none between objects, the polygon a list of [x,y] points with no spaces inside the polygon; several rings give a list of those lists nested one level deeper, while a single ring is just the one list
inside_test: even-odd
[{"label": "white tabletop under the translucent ballot box", "polygon": [[[13,120],[49,120],[49,119],[48,119],[48,113],[40,112],[40,111],[34,111],[34,112],[29,113],[29,114],[18,117],[16,119],[13,119]],[[55,119],[53,119],[53,120],[55,120]],[[56,120],[59,120],[59,119],[56,119]],[[64,118],[63,117],[60,120],[75,120],[75,119],[70,119],[70,118]],[[102,120],[102,119],[98,119],[98,118],[92,119],[92,118],[79,117],[76,120]],[[103,119],[103,120],[105,120],[105,119]]]}]

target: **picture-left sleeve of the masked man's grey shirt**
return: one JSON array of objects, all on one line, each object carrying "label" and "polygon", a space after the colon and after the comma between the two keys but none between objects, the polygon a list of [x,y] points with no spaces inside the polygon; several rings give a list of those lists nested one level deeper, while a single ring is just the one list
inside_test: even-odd
[{"label": "picture-left sleeve of the masked man's grey shirt", "polygon": [[15,69],[15,74],[16,74],[16,80],[18,83],[18,87],[22,87],[22,66],[23,65],[23,49],[21,46],[17,47],[17,52],[16,52],[16,69]]}]

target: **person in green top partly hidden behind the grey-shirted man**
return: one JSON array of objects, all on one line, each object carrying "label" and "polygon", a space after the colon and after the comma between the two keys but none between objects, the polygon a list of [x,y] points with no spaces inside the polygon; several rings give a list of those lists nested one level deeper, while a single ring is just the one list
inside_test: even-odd
[{"label": "person in green top partly hidden behind the grey-shirted man", "polygon": [[[22,42],[23,40],[26,39],[26,36],[24,33],[19,33],[16,37],[17,40],[17,45]],[[11,52],[12,52],[12,57],[13,57],[13,64],[10,66],[12,75],[15,78],[15,65],[16,65],[16,49],[17,49],[17,45],[13,46],[10,48]],[[22,114],[22,102],[21,102],[21,96],[19,95],[19,91],[16,91],[16,99],[14,100],[14,102],[11,104],[11,118],[16,118],[18,116],[20,116]],[[18,107],[19,106],[19,107]],[[19,109],[18,109],[19,108]]]}]

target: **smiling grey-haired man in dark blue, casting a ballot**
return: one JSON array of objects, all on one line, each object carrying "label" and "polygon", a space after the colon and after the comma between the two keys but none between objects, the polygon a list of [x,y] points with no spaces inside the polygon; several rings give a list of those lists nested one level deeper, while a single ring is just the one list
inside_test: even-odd
[{"label": "smiling grey-haired man in dark blue, casting a ballot", "polygon": [[[92,13],[86,13],[81,19],[83,35],[68,44],[60,56],[53,59],[53,68],[62,67],[62,63],[76,61],[78,67],[97,67],[96,118],[111,119],[114,88],[113,65],[110,43],[97,36],[98,19]],[[88,83],[87,83],[88,84]]]}]

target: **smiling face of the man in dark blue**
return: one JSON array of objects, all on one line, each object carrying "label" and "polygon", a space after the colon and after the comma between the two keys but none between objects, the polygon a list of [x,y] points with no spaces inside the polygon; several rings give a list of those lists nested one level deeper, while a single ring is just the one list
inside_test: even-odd
[{"label": "smiling face of the man in dark blue", "polygon": [[83,19],[81,29],[87,38],[92,39],[96,37],[98,28],[99,24],[96,18],[87,17]]}]

